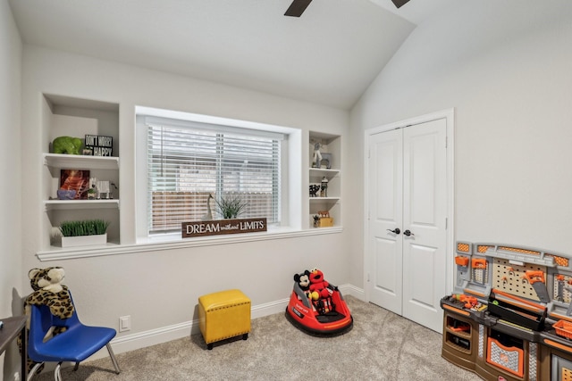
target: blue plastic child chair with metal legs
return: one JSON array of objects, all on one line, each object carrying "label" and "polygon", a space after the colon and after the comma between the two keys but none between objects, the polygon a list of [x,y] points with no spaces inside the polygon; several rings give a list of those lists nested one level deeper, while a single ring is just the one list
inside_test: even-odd
[{"label": "blue plastic child chair with metal legs", "polygon": [[[71,293],[70,293],[71,297]],[[73,299],[71,299],[73,302]],[[78,318],[77,310],[68,319],[59,319],[52,315],[46,305],[32,305],[29,322],[28,357],[37,362],[29,372],[28,381],[35,375],[44,362],[57,362],[54,379],[61,381],[60,368],[63,361],[75,362],[74,370],[80,366],[80,361],[107,347],[109,356],[114,363],[115,373],[119,374],[119,364],[109,342],[114,338],[114,328],[85,326]],[[46,342],[44,337],[50,327],[66,327],[65,332],[55,335]]]}]

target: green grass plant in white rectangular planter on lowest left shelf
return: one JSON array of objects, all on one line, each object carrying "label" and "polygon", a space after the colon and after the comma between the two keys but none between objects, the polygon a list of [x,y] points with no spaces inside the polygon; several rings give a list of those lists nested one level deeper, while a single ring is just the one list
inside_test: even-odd
[{"label": "green grass plant in white rectangular planter on lowest left shelf", "polygon": [[109,222],[103,219],[63,221],[60,224],[62,247],[88,246],[107,243]]}]

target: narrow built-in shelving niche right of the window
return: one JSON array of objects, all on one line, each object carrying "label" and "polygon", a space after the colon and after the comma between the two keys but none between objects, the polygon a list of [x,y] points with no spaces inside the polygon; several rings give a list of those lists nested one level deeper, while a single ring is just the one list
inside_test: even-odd
[{"label": "narrow built-in shelving niche right of the window", "polygon": [[[318,166],[314,162],[314,147],[320,146],[323,160]],[[309,226],[314,226],[314,216],[321,211],[327,211],[333,219],[333,227],[341,227],[341,137],[310,131],[309,133],[309,186],[321,186],[327,179],[327,190],[317,192],[314,197],[309,194]]]}]

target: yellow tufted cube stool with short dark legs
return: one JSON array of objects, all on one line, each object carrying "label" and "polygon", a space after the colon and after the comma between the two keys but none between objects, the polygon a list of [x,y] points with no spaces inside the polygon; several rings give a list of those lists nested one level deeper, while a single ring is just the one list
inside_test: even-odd
[{"label": "yellow tufted cube stool with short dark legs", "polygon": [[213,343],[250,332],[250,299],[240,290],[226,290],[198,298],[198,325],[206,347]]}]

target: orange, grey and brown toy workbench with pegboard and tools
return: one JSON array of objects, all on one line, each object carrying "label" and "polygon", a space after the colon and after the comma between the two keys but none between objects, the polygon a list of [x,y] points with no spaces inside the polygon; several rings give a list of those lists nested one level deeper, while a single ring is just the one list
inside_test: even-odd
[{"label": "orange, grey and brown toy workbench with pegboard and tools", "polygon": [[572,380],[572,256],[457,243],[442,357],[486,380]]}]

